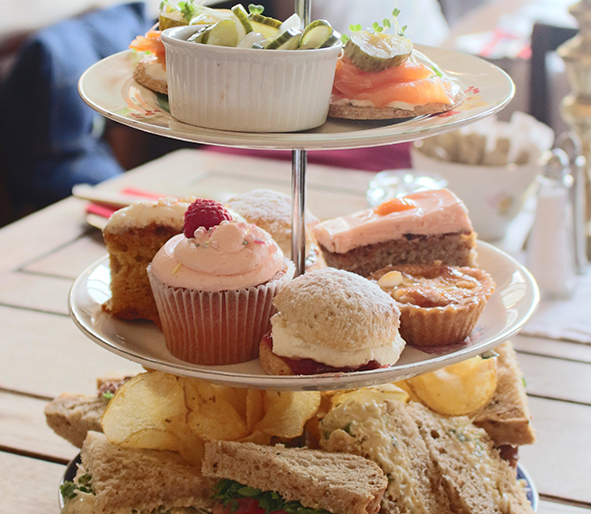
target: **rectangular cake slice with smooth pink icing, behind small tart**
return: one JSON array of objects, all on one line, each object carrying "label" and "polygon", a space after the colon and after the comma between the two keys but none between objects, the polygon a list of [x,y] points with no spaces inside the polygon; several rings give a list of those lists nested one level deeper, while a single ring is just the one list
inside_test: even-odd
[{"label": "rectangular cake slice with smooth pink icing, behind small tart", "polygon": [[394,198],[313,230],[328,266],[364,277],[388,265],[475,265],[476,234],[468,210],[447,189]]}]

